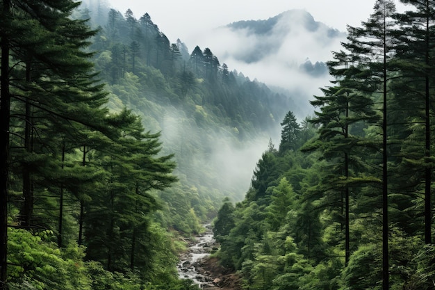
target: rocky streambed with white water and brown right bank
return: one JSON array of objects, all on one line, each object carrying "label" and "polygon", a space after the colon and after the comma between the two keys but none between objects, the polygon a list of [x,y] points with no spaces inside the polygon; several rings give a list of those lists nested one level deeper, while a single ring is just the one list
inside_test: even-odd
[{"label": "rocky streambed with white water and brown right bank", "polygon": [[177,266],[181,279],[190,279],[201,289],[240,289],[239,277],[218,264],[216,258],[211,258],[217,244],[213,239],[210,225],[205,225],[206,232],[199,234],[189,244],[187,252],[180,257]]}]

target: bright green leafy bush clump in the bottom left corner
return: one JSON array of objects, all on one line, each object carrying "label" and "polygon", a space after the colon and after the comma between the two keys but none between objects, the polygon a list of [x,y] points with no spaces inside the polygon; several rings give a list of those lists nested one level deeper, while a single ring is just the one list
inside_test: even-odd
[{"label": "bright green leafy bush clump in the bottom left corner", "polygon": [[10,229],[10,289],[92,289],[84,248],[71,244],[59,249],[48,241],[52,235],[49,231],[32,234]]}]

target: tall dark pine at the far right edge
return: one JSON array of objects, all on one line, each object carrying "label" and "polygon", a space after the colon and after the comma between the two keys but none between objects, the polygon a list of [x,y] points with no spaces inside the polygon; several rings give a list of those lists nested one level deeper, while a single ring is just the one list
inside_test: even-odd
[{"label": "tall dark pine at the far right edge", "polygon": [[[404,174],[413,172],[413,177],[409,180],[420,180],[424,184],[425,200],[425,243],[432,243],[432,101],[431,97],[434,92],[434,69],[432,64],[433,51],[435,48],[435,36],[433,33],[435,17],[434,7],[429,0],[404,0],[415,8],[397,15],[400,22],[400,35],[397,38],[401,40],[401,45],[397,47],[398,67],[402,79],[395,83],[394,90],[400,102],[398,110],[402,113],[401,118],[406,116],[409,124],[403,129],[408,136],[406,146],[402,148],[404,168],[401,170]],[[410,37],[412,35],[412,37]],[[408,108],[418,108],[410,111]],[[403,115],[404,114],[404,115]],[[418,123],[424,124],[419,126]],[[420,140],[424,139],[424,152],[415,150],[420,147]],[[413,140],[418,140],[417,142]],[[411,148],[414,149],[408,149]],[[412,170],[409,170],[412,168]],[[422,169],[422,170],[421,170]],[[424,171],[424,172],[422,172]],[[419,191],[419,184],[407,186],[409,191],[415,188]]]}]

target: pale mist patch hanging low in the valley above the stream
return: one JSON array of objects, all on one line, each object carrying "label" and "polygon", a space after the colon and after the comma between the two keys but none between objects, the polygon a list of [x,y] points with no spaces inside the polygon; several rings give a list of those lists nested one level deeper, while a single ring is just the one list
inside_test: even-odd
[{"label": "pale mist patch hanging low in the valley above the stream", "polygon": [[268,150],[269,140],[280,138],[277,127],[268,134],[240,141],[234,128],[204,127],[174,106],[165,108],[161,133],[163,147],[174,152],[182,178],[194,184],[200,180],[201,185],[231,193],[236,200],[242,200],[249,189],[256,163]]}]

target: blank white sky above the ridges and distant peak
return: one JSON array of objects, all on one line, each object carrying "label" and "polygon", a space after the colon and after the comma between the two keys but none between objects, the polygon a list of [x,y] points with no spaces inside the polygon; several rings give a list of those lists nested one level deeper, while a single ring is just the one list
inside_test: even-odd
[{"label": "blank white sky above the ridges and distant peak", "polygon": [[314,19],[340,31],[368,19],[375,0],[108,0],[121,13],[130,8],[139,19],[151,16],[170,42],[180,38],[189,49],[195,34],[239,20],[268,19],[291,9],[304,9]]}]

